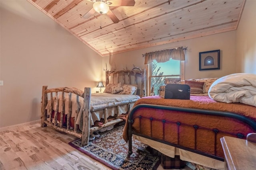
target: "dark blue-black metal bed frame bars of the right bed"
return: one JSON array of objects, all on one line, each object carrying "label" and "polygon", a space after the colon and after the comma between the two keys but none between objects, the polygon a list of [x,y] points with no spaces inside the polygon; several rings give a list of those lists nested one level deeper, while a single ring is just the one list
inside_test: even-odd
[{"label": "dark blue-black metal bed frame bars of the right bed", "polygon": [[[132,135],[137,135],[137,136],[141,136],[141,137],[144,137],[144,138],[147,138],[147,139],[151,139],[153,141],[157,141],[159,143],[164,143],[164,144],[167,144],[167,145],[171,145],[173,147],[177,147],[177,148],[180,148],[180,149],[184,149],[184,150],[188,150],[190,152],[194,152],[194,153],[197,153],[197,154],[200,154],[200,155],[204,155],[204,156],[208,156],[210,158],[214,158],[216,160],[221,160],[221,161],[224,161],[224,157],[220,157],[220,156],[217,156],[216,155],[216,143],[217,143],[217,140],[220,141],[220,138],[219,137],[216,137],[218,133],[223,133],[224,135],[227,135],[227,136],[234,136],[234,137],[238,137],[238,138],[242,138],[242,139],[246,139],[246,134],[242,134],[242,133],[230,133],[228,131],[219,131],[218,130],[218,123],[216,123],[216,128],[212,129],[212,128],[207,128],[207,127],[198,127],[196,125],[192,125],[192,124],[186,124],[186,123],[181,123],[182,120],[180,121],[164,121],[164,120],[160,120],[160,119],[156,119],[154,117],[154,115],[152,115],[152,117],[143,117],[142,116],[134,116],[134,113],[136,113],[136,111],[138,109],[142,109],[142,108],[146,108],[146,109],[162,109],[162,110],[168,110],[168,111],[180,111],[180,112],[188,112],[188,113],[195,113],[197,114],[198,116],[200,115],[215,115],[215,116],[221,116],[221,117],[228,117],[228,118],[232,118],[232,119],[235,119],[235,120],[238,120],[238,121],[242,121],[242,123],[245,125],[245,126],[248,126],[250,129],[252,129],[252,131],[254,131],[254,133],[256,132],[256,121],[248,118],[248,117],[245,117],[243,115],[238,115],[236,113],[231,113],[231,112],[225,112],[225,111],[214,111],[214,110],[207,110],[207,109],[192,109],[192,108],[184,108],[184,107],[172,107],[172,106],[160,106],[160,105],[152,105],[152,104],[138,104],[136,106],[134,106],[129,115],[128,115],[128,129],[127,129],[127,134],[128,134],[128,146],[129,146],[129,149],[128,149],[128,154],[132,154]],[[145,135],[145,134],[142,134],[140,132],[138,132],[138,129],[137,129],[137,132],[134,131],[133,127],[132,127],[132,124],[134,123],[135,120],[138,120],[139,119],[139,122],[140,122],[140,125],[136,125],[138,126],[138,129],[141,128],[141,125],[143,124],[141,122],[140,119],[150,119],[150,121],[152,122],[153,121],[159,121],[159,122],[162,122],[162,124],[172,124],[172,125],[177,125],[179,129],[179,127],[188,127],[188,128],[192,128],[194,129],[194,133],[195,133],[195,137],[194,137],[194,141],[191,141],[191,143],[194,143],[195,144],[195,147],[194,149],[191,149],[191,148],[188,148],[188,147],[184,147],[180,144],[179,142],[179,135],[182,133],[180,132],[179,130],[177,130],[177,134],[178,134],[178,144],[174,144],[174,143],[170,143],[170,142],[167,142],[167,141],[164,141],[162,139],[156,139],[156,138],[153,138],[151,137],[152,136],[152,131],[154,131],[154,129],[152,129],[152,125],[151,127],[147,127],[148,129],[150,129],[150,135]],[[165,127],[165,125],[163,125],[163,128]],[[145,127],[144,127],[145,128]],[[162,127],[159,127],[159,128],[162,128]],[[196,138],[196,131],[197,130],[200,130],[201,129],[204,129],[204,130],[207,130],[207,131],[213,131],[214,133],[212,133],[212,135],[214,135],[214,137],[212,137],[214,139],[214,154],[208,154],[208,153],[205,153],[205,152],[201,152],[200,150],[197,150],[197,146],[196,146],[196,140],[200,140],[200,139],[197,139]],[[162,130],[162,129],[161,129]],[[160,131],[160,129],[158,129],[158,131]],[[163,129],[164,131],[164,129]],[[224,136],[223,135],[223,136]]]}]

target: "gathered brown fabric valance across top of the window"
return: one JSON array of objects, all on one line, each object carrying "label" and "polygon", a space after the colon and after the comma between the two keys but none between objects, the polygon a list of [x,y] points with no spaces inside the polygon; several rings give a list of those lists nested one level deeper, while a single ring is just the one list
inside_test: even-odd
[{"label": "gathered brown fabric valance across top of the window", "polygon": [[169,61],[170,59],[173,60],[185,60],[185,52],[187,47],[178,47],[177,49],[164,49],[160,51],[153,51],[150,53],[146,53],[143,56],[145,57],[145,63],[149,64],[152,63],[153,60],[156,60],[158,63],[164,63]]}]

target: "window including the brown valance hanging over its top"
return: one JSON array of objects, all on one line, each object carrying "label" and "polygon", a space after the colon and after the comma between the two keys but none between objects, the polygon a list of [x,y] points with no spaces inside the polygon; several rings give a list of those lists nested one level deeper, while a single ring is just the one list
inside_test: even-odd
[{"label": "window including the brown valance hanging over its top", "polygon": [[[184,80],[185,50],[187,47],[177,47],[153,51],[143,55],[144,64],[148,70],[147,96],[157,95],[158,89],[164,85],[165,78],[180,78]],[[154,91],[151,88],[154,86]],[[151,94],[152,93],[152,94]]]}]

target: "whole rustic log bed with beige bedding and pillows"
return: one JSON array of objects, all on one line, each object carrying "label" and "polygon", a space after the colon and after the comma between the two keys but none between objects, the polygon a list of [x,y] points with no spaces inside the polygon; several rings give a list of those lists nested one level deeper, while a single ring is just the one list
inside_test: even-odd
[{"label": "whole rustic log bed with beige bedding and pillows", "polygon": [[41,127],[51,126],[81,138],[82,145],[88,145],[94,131],[124,121],[125,114],[145,92],[145,71],[139,68],[106,71],[104,93],[91,94],[90,88],[82,91],[43,86]]}]

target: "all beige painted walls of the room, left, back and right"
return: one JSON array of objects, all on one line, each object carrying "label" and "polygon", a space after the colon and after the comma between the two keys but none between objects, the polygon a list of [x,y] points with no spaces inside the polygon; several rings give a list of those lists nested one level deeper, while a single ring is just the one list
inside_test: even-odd
[{"label": "all beige painted walls of the room, left, back and right", "polygon": [[[185,78],[256,74],[256,1],[247,0],[237,31],[100,57],[25,0],[0,0],[0,127],[40,119],[41,90],[92,88],[105,80],[102,67],[144,68],[142,54],[186,46]],[[198,53],[220,49],[220,70],[199,71]],[[14,100],[15,99],[15,100]]]}]

